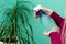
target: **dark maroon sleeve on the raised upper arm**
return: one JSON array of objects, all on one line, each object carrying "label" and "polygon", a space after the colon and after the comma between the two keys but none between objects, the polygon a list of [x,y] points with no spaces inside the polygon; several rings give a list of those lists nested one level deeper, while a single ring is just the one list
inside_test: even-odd
[{"label": "dark maroon sleeve on the raised upper arm", "polygon": [[52,14],[51,14],[51,18],[56,22],[56,24],[61,28],[61,24],[62,24],[62,22],[64,21],[64,19],[61,16],[61,15],[58,15],[56,12],[53,12]]}]

